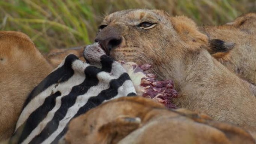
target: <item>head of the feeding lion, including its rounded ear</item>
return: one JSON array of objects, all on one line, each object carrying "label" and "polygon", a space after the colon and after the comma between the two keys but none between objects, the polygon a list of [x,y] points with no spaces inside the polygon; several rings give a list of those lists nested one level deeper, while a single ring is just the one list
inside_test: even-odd
[{"label": "head of the feeding lion, including its rounded ear", "polygon": [[182,59],[185,52],[207,45],[207,39],[185,16],[171,17],[163,10],[135,9],[106,16],[95,42],[116,60],[149,63],[158,73],[158,66]]}]

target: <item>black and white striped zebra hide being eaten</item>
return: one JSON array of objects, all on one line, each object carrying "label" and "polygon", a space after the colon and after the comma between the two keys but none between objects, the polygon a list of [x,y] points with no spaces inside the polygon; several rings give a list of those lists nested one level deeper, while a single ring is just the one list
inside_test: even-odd
[{"label": "black and white striped zebra hide being eaten", "polygon": [[136,95],[124,68],[95,43],[86,62],[68,55],[28,96],[10,144],[57,144],[71,119],[102,102]]}]

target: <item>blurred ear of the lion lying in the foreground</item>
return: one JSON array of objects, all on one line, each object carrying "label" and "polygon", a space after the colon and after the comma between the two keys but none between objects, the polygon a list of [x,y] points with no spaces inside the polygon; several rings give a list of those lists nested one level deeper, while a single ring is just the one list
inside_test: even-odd
[{"label": "blurred ear of the lion lying in the foreground", "polygon": [[106,123],[98,130],[100,136],[106,142],[114,143],[119,141],[140,126],[139,117],[119,116],[115,120]]}]

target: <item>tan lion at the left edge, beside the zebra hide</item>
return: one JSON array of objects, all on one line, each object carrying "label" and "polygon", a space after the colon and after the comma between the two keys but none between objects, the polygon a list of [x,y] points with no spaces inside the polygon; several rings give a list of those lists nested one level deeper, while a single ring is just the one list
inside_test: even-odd
[{"label": "tan lion at the left edge, beside the zebra hide", "polygon": [[13,134],[28,94],[52,69],[27,35],[0,31],[0,141]]}]

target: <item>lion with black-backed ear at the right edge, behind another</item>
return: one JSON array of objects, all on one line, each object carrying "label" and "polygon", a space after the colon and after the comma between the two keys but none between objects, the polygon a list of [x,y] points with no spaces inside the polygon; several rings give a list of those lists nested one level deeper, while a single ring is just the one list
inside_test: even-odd
[{"label": "lion with black-backed ear at the right edge, behind another", "polygon": [[200,27],[200,30],[209,38],[208,51],[212,56],[255,87],[256,13],[247,13],[225,25]]}]

